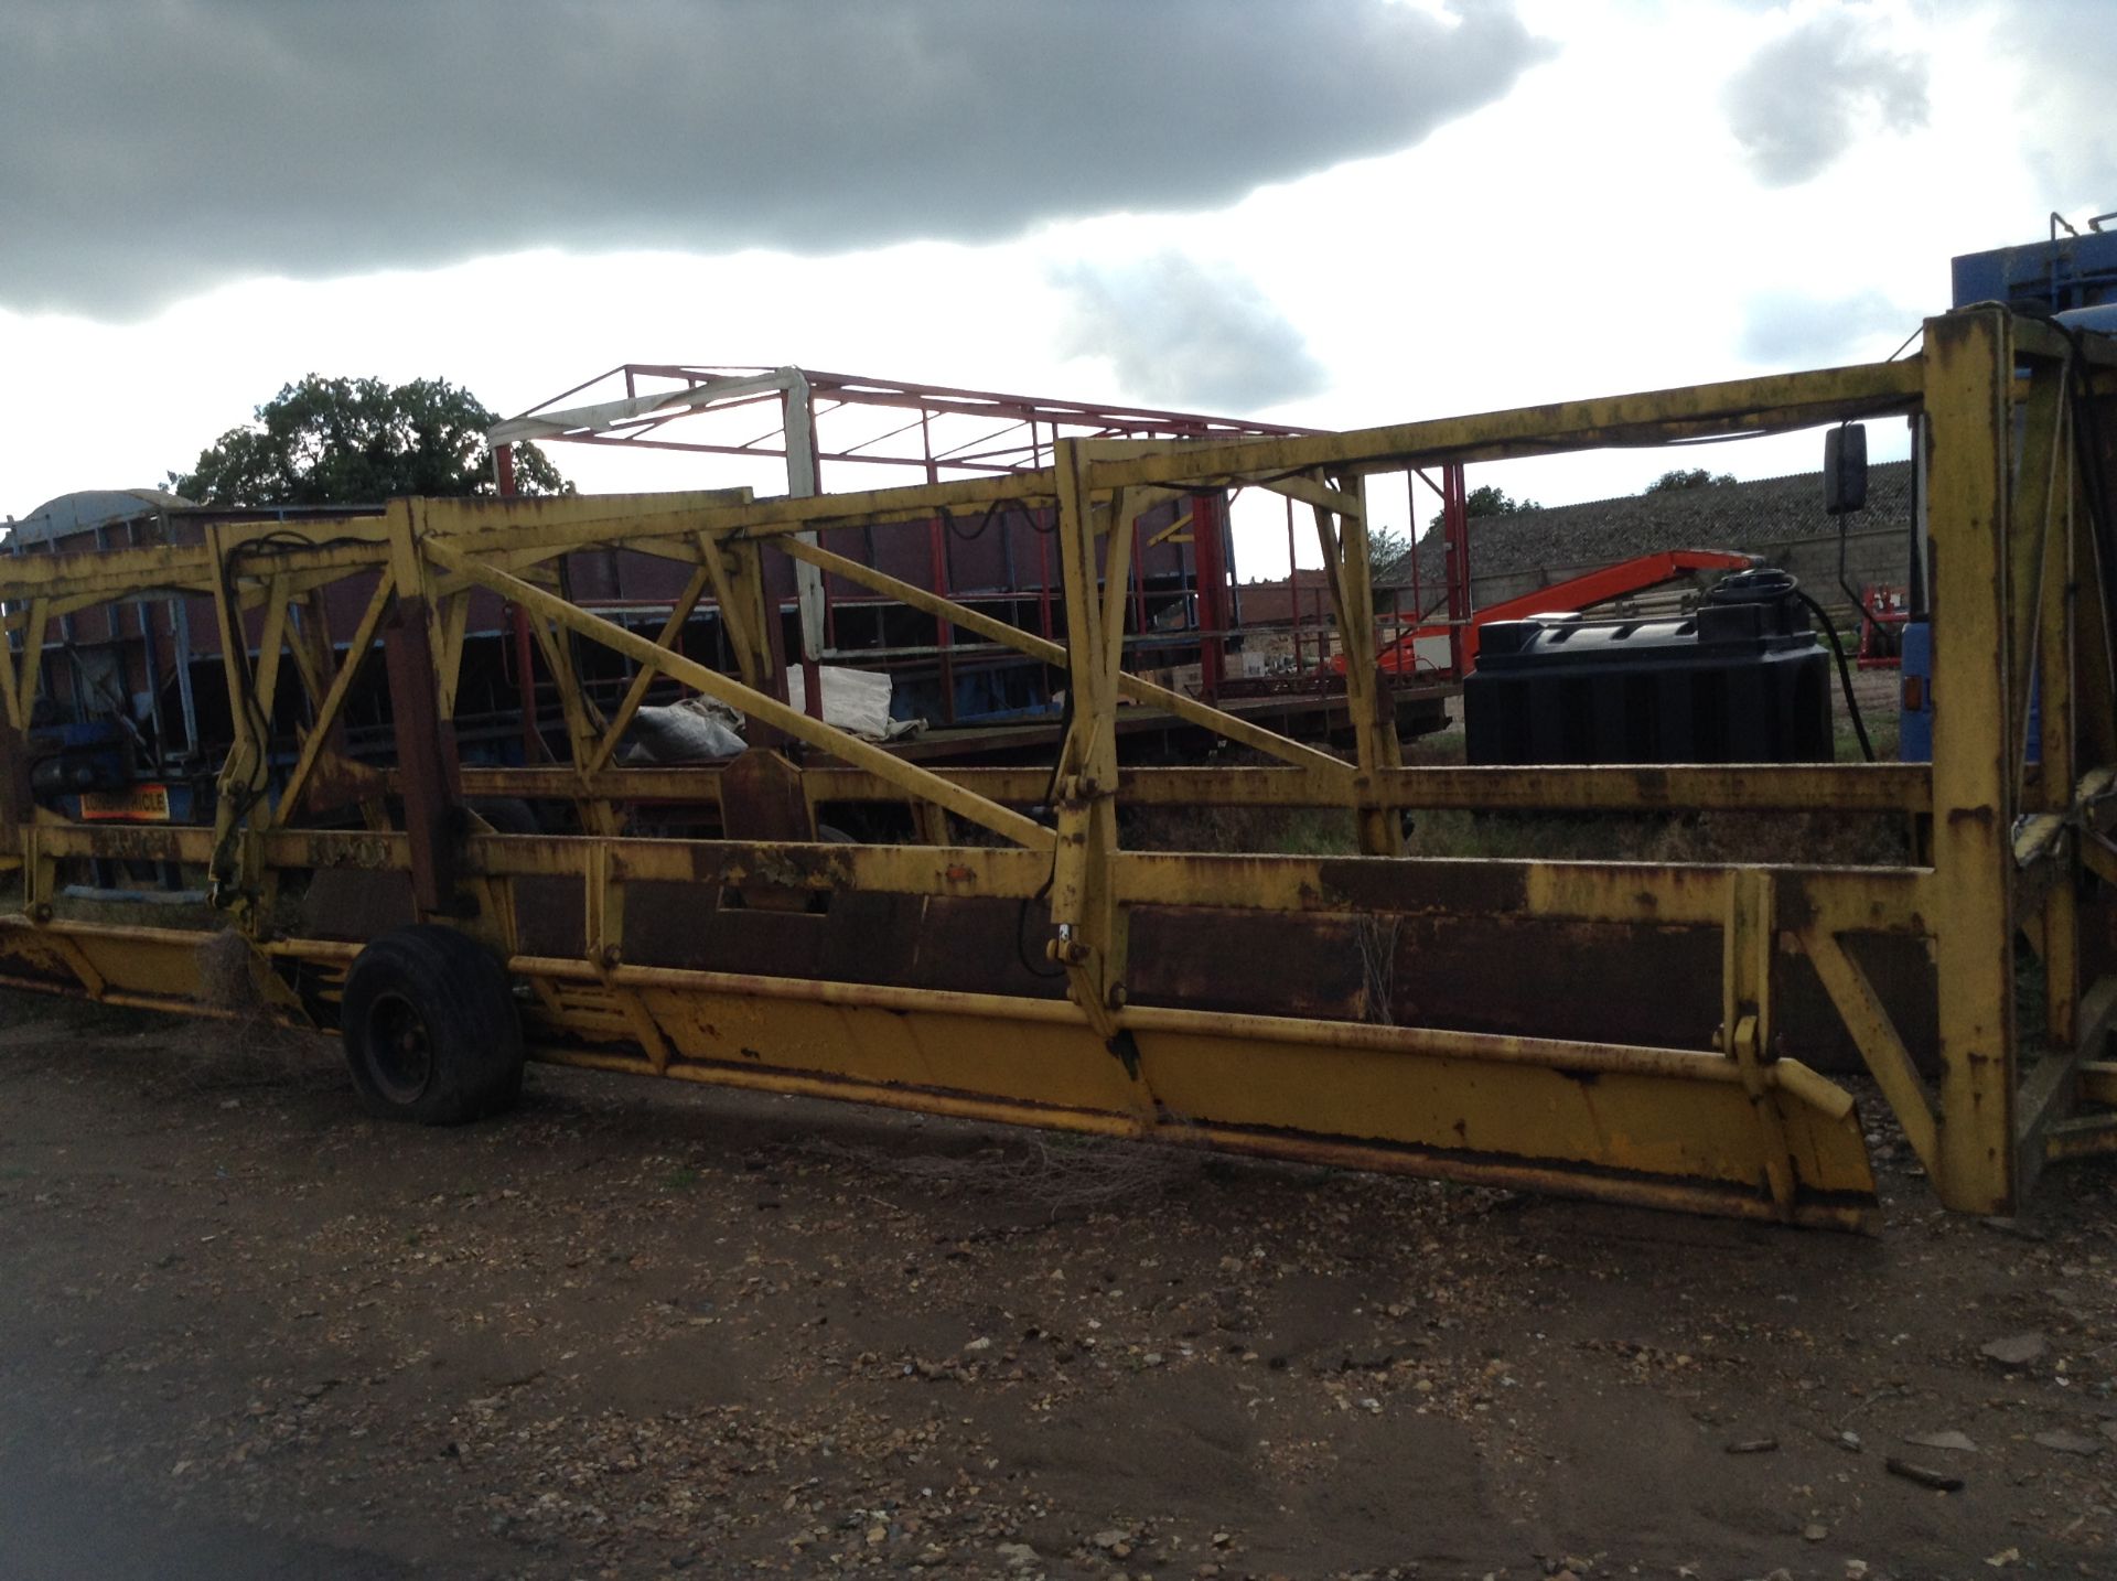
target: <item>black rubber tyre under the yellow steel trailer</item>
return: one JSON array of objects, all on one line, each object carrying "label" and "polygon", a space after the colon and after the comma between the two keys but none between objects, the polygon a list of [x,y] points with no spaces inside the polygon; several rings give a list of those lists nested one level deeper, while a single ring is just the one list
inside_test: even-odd
[{"label": "black rubber tyre under the yellow steel trailer", "polygon": [[523,1090],[508,974],[453,927],[415,923],[368,942],[345,974],[339,1035],[354,1090],[383,1120],[462,1126]]}]

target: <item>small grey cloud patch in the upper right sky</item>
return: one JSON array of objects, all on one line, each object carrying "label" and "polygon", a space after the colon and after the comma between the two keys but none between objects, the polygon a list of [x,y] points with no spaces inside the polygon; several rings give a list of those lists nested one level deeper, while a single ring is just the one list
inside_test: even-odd
[{"label": "small grey cloud patch in the upper right sky", "polygon": [[1869,127],[1926,123],[1926,61],[1857,11],[1819,11],[1759,49],[1727,80],[1727,127],[1766,186],[1829,169]]}]

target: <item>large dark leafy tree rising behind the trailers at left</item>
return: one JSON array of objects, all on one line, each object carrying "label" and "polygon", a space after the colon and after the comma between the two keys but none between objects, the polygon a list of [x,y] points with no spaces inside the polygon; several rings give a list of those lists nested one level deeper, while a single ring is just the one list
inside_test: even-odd
[{"label": "large dark leafy tree rising behind the trailers at left", "polygon": [[[375,504],[396,495],[497,493],[485,430],[500,421],[447,379],[324,379],[311,372],[199,451],[169,489],[216,506]],[[533,444],[514,447],[521,493],[572,493]]]}]

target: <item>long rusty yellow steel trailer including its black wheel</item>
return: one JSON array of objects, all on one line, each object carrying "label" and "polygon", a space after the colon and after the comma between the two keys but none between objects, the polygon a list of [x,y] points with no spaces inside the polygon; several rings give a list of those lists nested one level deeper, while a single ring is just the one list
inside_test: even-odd
[{"label": "long rusty yellow steel trailer including its black wheel", "polygon": [[[199,546],[15,557],[0,563],[0,861],[21,889],[0,980],[212,1014],[233,948],[275,1014],[343,1035],[373,1109],[426,1122],[504,1107],[536,1058],[1852,1228],[1876,1187],[1854,1101],[1819,1071],[1842,1056],[1941,1202],[2007,1213],[2045,1160],[2117,1143],[2100,904],[2117,876],[2117,567],[2092,508],[2113,379],[2109,343],[1986,307],[1931,320],[1922,351],[1886,364],[1342,434],[1067,440],[1044,470],[970,483],[398,499],[381,516],[218,523]],[[1376,474],[1882,415],[1914,419],[1922,449],[1931,766],[1408,766],[1372,662],[1346,665],[1344,760],[1122,667],[1130,523],[1171,495],[1255,487],[1313,512],[1342,648],[1372,660]],[[1052,512],[1065,641],[830,548],[993,508]],[[565,597],[563,557],[595,548],[688,569],[658,639]],[[1056,762],[936,773],[790,707],[771,555],[1061,669]],[[343,658],[313,618],[332,584],[364,607]],[[51,624],[148,595],[216,610],[235,745],[214,828],[68,821],[30,794]],[[561,762],[457,762],[466,612],[491,595],[525,616],[559,690]],[[735,675],[677,650],[703,599]],[[580,686],[580,643],[637,667],[614,709]],[[341,732],[377,652],[383,768]],[[718,768],[620,766],[656,679],[739,709],[752,749]],[[1120,766],[1124,703],[1249,762]],[[301,720],[292,737],[273,739],[275,715]],[[478,815],[493,798],[565,832],[497,832]],[[667,802],[718,808],[722,838],[641,834],[635,811]],[[919,834],[819,840],[817,808],[843,802],[904,804]],[[1359,853],[1135,851],[1120,806],[1346,808]],[[1404,815],[1425,808],[1844,813],[1893,819],[1912,859],[1406,857]],[[68,895],[91,859],[201,872],[224,929],[140,927]],[[2018,993],[2024,938],[2041,995]]]}]

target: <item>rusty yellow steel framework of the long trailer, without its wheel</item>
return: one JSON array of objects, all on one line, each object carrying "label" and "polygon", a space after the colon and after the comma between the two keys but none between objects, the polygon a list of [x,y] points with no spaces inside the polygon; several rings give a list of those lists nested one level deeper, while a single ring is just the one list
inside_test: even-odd
[{"label": "rusty yellow steel framework of the long trailer, without its wheel", "polygon": [[[2117,1124],[2096,1111],[2117,1096],[2117,1067],[2102,1058],[2117,978],[2100,976],[2094,929],[2083,923],[2096,887],[2117,878],[2106,817],[2117,785],[2109,567],[2083,504],[2096,497],[2083,491],[2085,470],[2106,457],[2077,432],[2083,402],[2109,400],[2113,368],[2106,345],[1971,309],[1933,320],[1924,353],[1903,362],[1482,417],[1183,444],[1061,440],[1050,466],[1035,470],[857,495],[413,499],[394,502],[381,519],[229,523],[199,548],[11,561],[0,580],[8,633],[0,749],[17,751],[28,726],[44,626],[146,588],[214,597],[239,728],[214,830],[85,825],[44,808],[0,830],[0,866],[19,868],[23,885],[21,910],[0,919],[0,980],[201,1007],[197,933],[99,921],[57,893],[61,866],[83,857],[178,861],[212,872],[216,897],[254,946],[260,993],[288,1016],[328,1022],[330,984],[358,942],[288,923],[282,891],[301,874],[409,872],[419,916],[472,931],[529,986],[529,1041],[553,1060],[1857,1225],[1876,1198],[1852,1098],[1795,1058],[1799,1050],[1783,1035],[1785,974],[1806,959],[1941,1202],[2009,1211],[2049,1158],[2117,1147]],[[1365,478],[1899,413],[1920,417],[1929,444],[1931,768],[1401,762],[1372,662]],[[1124,671],[1126,546],[1139,512],[1236,485],[1277,489],[1315,519],[1346,652],[1370,660],[1349,665],[1351,762]],[[1016,631],[824,546],[840,529],[997,502],[1056,512],[1065,641]],[[303,535],[309,546],[288,542]],[[561,597],[555,561],[586,546],[690,567],[658,639]],[[773,694],[775,656],[756,593],[760,557],[771,552],[1063,667],[1073,709],[1056,766],[934,773],[790,709]],[[288,610],[334,580],[362,580],[370,595],[332,673],[328,654],[298,646],[305,622]],[[449,705],[472,588],[529,616],[565,705],[567,762],[455,764]],[[737,675],[675,652],[684,605],[707,595],[730,612]],[[641,679],[614,717],[601,717],[578,686],[559,633],[639,665]],[[351,675],[377,637],[400,728],[409,724],[415,737],[385,773],[347,762],[332,745]],[[2034,762],[2022,749],[2032,669],[2043,720]],[[292,775],[271,800],[260,773],[267,743],[252,722],[271,717],[288,673],[309,698],[311,724],[292,743]],[[713,806],[735,783],[732,770],[614,766],[648,675],[716,696],[754,726],[802,743],[809,756],[785,775],[807,817],[826,802],[898,800],[940,808],[944,817],[921,823],[927,832],[955,819],[999,844],[625,834],[629,808]],[[1169,709],[1279,766],[1120,768],[1122,701]],[[491,834],[464,808],[478,796],[565,802],[582,832]],[[1346,808],[1359,855],[1126,851],[1120,802]],[[13,804],[23,806],[21,798]],[[1884,815],[1920,830],[1924,861],[1404,857],[1399,813],[1450,806]],[[345,828],[351,808],[360,828]],[[578,887],[578,955],[525,946],[517,891],[533,880]],[[1031,904],[1044,906],[1042,942],[1065,974],[1065,999],[635,961],[627,902],[639,885],[760,895],[781,910],[849,893],[999,902],[1025,916]],[[1660,948],[1670,929],[1717,929],[1721,1024],[1694,1046],[1636,1046],[1395,1024],[1387,1003],[1338,1016],[1249,1014],[1166,995],[1145,1003],[1135,993],[1143,963],[1133,933],[1141,916],[1169,910],[1279,919],[1274,927],[1332,919],[1355,933],[1486,914],[1630,929],[1641,950]],[[2018,1024],[2013,1007],[2018,925],[2043,963],[2045,1016],[2032,1029]],[[1907,1041],[1863,963],[1859,942],[1878,935],[1914,940],[1933,961],[1933,1048]]]}]

